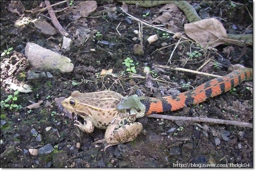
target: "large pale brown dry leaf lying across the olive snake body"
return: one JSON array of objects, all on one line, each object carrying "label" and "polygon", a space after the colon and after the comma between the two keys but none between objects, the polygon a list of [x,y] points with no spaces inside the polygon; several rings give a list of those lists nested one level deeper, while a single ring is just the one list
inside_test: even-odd
[{"label": "large pale brown dry leaf lying across the olive snake body", "polygon": [[227,38],[227,33],[221,22],[214,18],[185,24],[185,32],[202,47],[215,47],[224,44],[219,38]]}]

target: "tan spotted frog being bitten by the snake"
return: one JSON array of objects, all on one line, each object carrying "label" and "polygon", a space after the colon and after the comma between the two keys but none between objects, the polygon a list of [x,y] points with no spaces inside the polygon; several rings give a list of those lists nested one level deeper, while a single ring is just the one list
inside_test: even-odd
[{"label": "tan spotted frog being bitten by the snake", "polygon": [[75,120],[74,125],[81,131],[92,133],[95,127],[106,130],[104,138],[94,142],[104,144],[105,151],[107,147],[133,141],[142,130],[142,124],[135,122],[138,112],[117,108],[123,98],[113,91],[81,93],[76,90],[62,101],[62,106],[84,119],[84,123]]}]

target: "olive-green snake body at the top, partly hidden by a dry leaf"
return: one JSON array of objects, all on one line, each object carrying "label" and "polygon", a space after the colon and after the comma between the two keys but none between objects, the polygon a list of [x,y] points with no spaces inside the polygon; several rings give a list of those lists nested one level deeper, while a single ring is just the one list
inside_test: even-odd
[{"label": "olive-green snake body at the top, partly hidden by a dry leaf", "polygon": [[[152,7],[167,3],[173,3],[178,8],[180,8],[183,13],[186,15],[189,22],[197,22],[202,20],[201,17],[198,16],[196,10],[191,6],[188,2],[183,0],[160,0],[160,1],[135,1],[135,0],[123,0],[118,2],[125,2],[127,4],[138,4],[141,7]],[[228,39],[238,41],[236,44],[239,46],[252,46],[253,45],[253,35],[252,34],[245,34],[245,35],[236,35],[236,34],[227,34]]]}]

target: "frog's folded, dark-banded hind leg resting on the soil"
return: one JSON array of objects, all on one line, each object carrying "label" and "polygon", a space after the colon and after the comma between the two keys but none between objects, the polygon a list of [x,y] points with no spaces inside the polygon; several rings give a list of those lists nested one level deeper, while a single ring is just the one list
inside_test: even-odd
[{"label": "frog's folded, dark-banded hind leg resting on the soil", "polygon": [[133,141],[142,130],[142,124],[135,120],[136,114],[119,114],[107,127],[104,139],[94,143],[104,144],[105,151],[109,146]]}]

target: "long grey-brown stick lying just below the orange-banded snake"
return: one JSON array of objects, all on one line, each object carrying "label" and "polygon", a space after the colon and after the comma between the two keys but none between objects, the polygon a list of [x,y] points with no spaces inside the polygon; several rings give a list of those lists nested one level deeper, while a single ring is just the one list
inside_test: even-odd
[{"label": "long grey-brown stick lying just below the orange-banded snake", "polygon": [[238,127],[253,128],[252,123],[238,122],[235,120],[212,119],[212,118],[206,118],[206,117],[169,116],[169,115],[160,115],[160,114],[151,114],[151,115],[148,115],[147,117],[153,117],[157,119],[167,119],[167,120],[185,120],[190,122],[218,123],[218,124],[226,124],[226,125],[235,125]]}]

